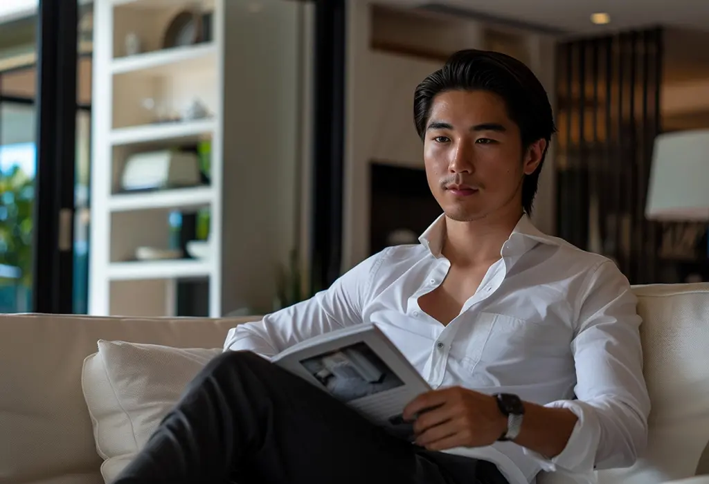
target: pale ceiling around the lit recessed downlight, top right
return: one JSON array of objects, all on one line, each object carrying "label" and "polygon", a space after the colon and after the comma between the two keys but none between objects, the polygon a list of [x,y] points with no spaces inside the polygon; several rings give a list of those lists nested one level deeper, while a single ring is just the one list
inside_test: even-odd
[{"label": "pale ceiling around the lit recessed downlight, top right", "polygon": [[[571,34],[658,24],[709,30],[709,0],[389,0],[388,3],[447,4]],[[594,12],[609,13],[611,23],[593,25],[590,16]]]}]

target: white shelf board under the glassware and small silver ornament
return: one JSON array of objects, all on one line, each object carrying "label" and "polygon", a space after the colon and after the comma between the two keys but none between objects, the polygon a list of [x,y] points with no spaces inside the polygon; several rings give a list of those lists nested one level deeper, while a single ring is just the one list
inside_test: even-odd
[{"label": "white shelf board under the glassware and small silver ornament", "polygon": [[216,122],[212,119],[186,122],[166,122],[113,129],[111,144],[138,144],[157,141],[199,139],[213,134]]}]

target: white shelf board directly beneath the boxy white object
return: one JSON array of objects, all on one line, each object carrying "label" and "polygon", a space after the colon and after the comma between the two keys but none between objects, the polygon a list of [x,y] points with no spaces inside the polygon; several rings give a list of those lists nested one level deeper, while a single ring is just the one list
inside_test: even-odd
[{"label": "white shelf board directly beneath the boxy white object", "polygon": [[121,193],[111,195],[111,198],[108,199],[108,209],[111,212],[128,212],[130,210],[199,208],[211,204],[213,195],[214,191],[209,186]]}]

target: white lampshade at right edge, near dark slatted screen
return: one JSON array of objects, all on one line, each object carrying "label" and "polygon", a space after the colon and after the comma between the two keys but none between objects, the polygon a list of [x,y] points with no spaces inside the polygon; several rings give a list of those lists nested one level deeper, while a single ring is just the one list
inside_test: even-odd
[{"label": "white lampshade at right edge, near dark slatted screen", "polygon": [[709,129],[655,139],[645,215],[668,221],[709,220]]}]

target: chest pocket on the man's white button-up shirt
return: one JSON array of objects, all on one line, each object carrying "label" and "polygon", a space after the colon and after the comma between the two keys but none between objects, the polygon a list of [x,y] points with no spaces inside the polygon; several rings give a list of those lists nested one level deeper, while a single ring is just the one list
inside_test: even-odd
[{"label": "chest pocket on the man's white button-up shirt", "polygon": [[543,325],[496,313],[481,313],[468,333],[460,338],[457,350],[464,369],[480,371],[479,366],[506,365],[543,352]]}]

